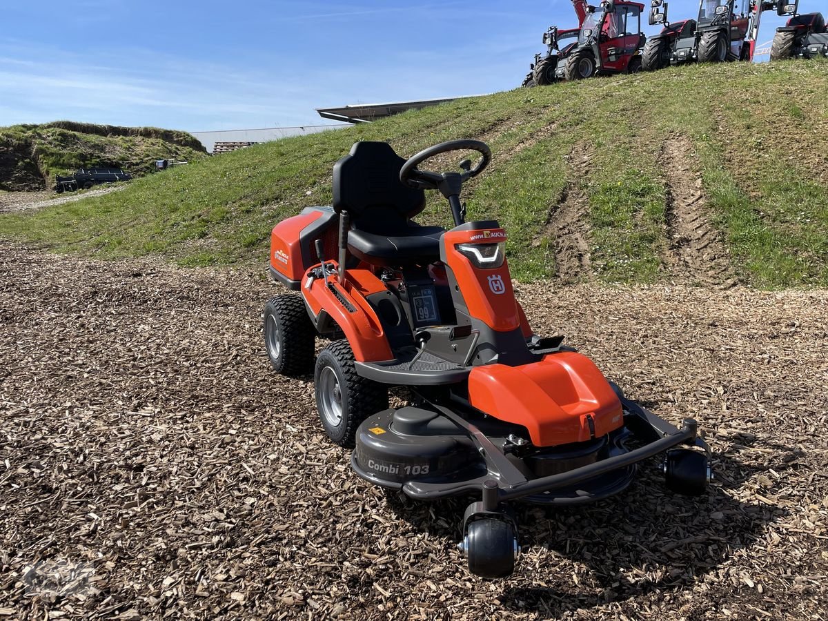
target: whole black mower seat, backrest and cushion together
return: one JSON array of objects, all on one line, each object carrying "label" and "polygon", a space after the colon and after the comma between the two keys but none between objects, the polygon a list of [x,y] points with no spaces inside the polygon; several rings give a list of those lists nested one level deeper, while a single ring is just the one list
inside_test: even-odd
[{"label": "whole black mower seat, backrest and cushion together", "polygon": [[334,210],[351,218],[348,248],[372,265],[426,264],[440,258],[439,226],[412,218],[426,207],[426,195],[402,185],[405,163],[387,142],[357,142],[334,166]]}]

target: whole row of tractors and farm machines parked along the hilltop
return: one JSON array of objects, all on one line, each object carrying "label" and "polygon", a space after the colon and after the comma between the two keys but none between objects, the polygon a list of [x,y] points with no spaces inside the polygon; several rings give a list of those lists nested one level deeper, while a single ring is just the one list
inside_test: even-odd
[{"label": "whole row of tractors and farm machines parked along the hilltop", "polygon": [[667,2],[652,0],[647,39],[641,31],[644,5],[604,0],[593,7],[572,0],[578,27],[551,26],[543,35],[546,55],[535,55],[523,86],[545,86],[593,75],[659,70],[692,62],[753,60],[763,12],[790,16],[777,28],[771,60],[828,56],[828,31],[821,13],[801,14],[799,0],[700,0],[696,19],[669,22]]}]

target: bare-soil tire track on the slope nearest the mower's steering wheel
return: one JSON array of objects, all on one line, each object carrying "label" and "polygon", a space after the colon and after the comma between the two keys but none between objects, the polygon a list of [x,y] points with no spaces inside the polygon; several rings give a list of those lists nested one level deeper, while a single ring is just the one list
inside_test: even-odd
[{"label": "bare-soil tire track on the slope nearest the mower's steering wheel", "polygon": [[592,152],[579,142],[570,152],[570,174],[561,199],[549,209],[546,224],[532,240],[537,248],[546,238],[555,248],[555,274],[565,282],[584,280],[592,275],[590,255],[589,200],[579,185],[590,168]]}]

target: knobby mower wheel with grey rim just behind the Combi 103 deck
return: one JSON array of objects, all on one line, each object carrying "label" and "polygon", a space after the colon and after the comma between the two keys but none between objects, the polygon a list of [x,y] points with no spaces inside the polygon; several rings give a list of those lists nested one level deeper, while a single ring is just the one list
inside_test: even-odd
[{"label": "knobby mower wheel with grey rim just behind the Combi 103 deck", "polygon": [[[327,389],[333,381],[329,373],[333,373],[338,394]],[[320,352],[316,359],[314,394],[325,433],[334,444],[346,449],[354,448],[354,436],[362,421],[388,409],[388,387],[357,375],[354,352],[346,339],[335,341]],[[325,399],[339,403],[338,423],[326,416],[330,405]]]}]

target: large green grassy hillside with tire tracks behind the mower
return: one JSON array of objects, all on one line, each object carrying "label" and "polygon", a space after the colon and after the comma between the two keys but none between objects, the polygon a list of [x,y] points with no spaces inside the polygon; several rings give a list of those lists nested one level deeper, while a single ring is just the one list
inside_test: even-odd
[{"label": "large green grassy hillside with tire tracks behind the mower", "polygon": [[[469,218],[508,229],[510,263],[523,280],[661,282],[689,273],[700,282],[826,286],[826,93],[828,63],[819,61],[517,89],[3,215],[0,236],[103,258],[264,262],[273,224],[330,203],[331,166],[354,141],[385,140],[411,156],[474,137],[494,158],[465,191]],[[449,224],[445,201],[431,196],[419,220]]]}]

